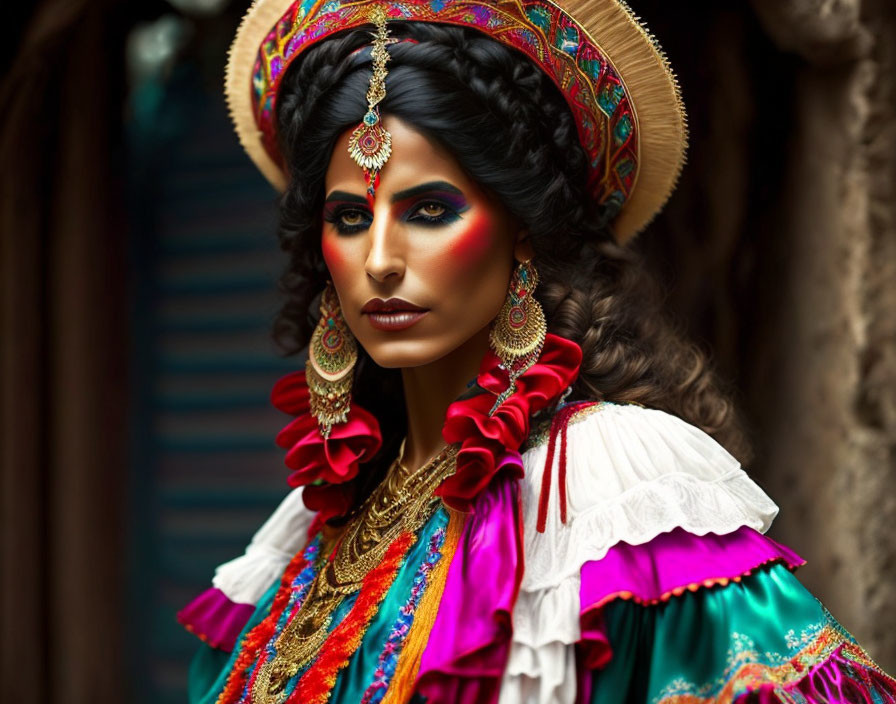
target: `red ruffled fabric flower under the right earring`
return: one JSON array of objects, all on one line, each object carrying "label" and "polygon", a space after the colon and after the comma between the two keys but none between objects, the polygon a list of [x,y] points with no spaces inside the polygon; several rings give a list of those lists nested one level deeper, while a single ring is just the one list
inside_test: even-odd
[{"label": "red ruffled fabric flower under the right earring", "polygon": [[576,379],[582,350],[563,337],[548,335],[538,361],[517,379],[516,391],[493,416],[489,411],[495,397],[507,388],[507,370],[501,360],[487,352],[476,377],[487,393],[455,401],[448,407],[442,437],[460,444],[457,471],[446,479],[436,494],[459,511],[469,511],[476,495],[500,469],[498,458],[517,451],[529,436],[529,419],[560,400]]}]

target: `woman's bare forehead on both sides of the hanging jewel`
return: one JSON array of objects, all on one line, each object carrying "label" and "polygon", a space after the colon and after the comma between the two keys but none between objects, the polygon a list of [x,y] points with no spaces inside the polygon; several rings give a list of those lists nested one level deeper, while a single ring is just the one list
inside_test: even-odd
[{"label": "woman's bare forehead on both sides of the hanging jewel", "polygon": [[[392,155],[380,171],[377,193],[400,191],[429,180],[448,181],[471,195],[481,193],[477,184],[461,168],[454,156],[439,142],[392,115],[383,116],[383,126],[392,135]],[[325,187],[332,190],[366,189],[364,172],[348,153],[354,128],[340,135],[327,168]]]}]

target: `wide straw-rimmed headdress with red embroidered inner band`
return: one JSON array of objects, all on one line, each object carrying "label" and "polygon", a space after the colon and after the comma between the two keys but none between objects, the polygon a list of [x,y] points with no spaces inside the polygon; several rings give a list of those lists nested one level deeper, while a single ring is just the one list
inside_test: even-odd
[{"label": "wide straw-rimmed headdress with red embroidered inner band", "polygon": [[[589,188],[624,242],[662,208],[684,165],[687,120],[656,40],[621,0],[255,0],[230,49],[226,93],[240,142],[279,190],[274,105],[302,52],[337,32],[415,21],[479,30],[554,81],[576,119]],[[385,51],[385,50],[384,50]]]}]

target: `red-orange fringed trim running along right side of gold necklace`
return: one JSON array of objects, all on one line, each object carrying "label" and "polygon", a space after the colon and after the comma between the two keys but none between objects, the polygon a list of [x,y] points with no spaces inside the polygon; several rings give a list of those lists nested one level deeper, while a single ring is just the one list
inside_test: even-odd
[{"label": "red-orange fringed trim running along right side of gold necklace", "polygon": [[330,698],[339,671],[361,645],[370,619],[386,598],[398,568],[415,540],[413,534],[402,533],[389,546],[382,561],[367,573],[351,611],[333,629],[317,659],[302,675],[287,700],[290,704],[325,704]]}]

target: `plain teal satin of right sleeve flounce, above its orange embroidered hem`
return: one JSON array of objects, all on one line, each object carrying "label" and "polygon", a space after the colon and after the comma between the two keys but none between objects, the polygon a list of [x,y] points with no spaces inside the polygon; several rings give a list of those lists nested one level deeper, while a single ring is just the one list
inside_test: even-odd
[{"label": "plain teal satin of right sleeve flounce, above its orange embroidered hem", "polygon": [[657,606],[616,601],[605,617],[613,658],[592,678],[592,704],[714,697],[742,665],[784,664],[826,626],[842,631],[781,564]]}]

